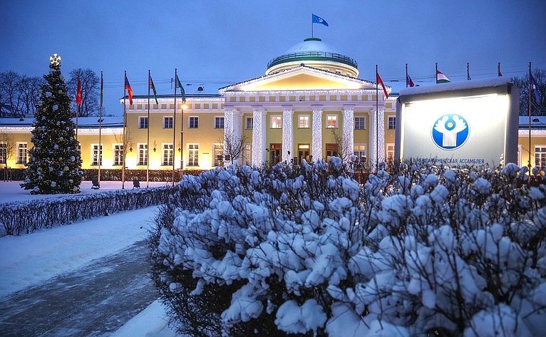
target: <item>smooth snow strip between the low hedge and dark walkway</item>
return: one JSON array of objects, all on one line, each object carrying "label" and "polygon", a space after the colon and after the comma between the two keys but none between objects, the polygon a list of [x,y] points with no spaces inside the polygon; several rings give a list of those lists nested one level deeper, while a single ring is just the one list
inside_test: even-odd
[{"label": "smooth snow strip between the low hedge and dark walkway", "polygon": [[0,238],[0,298],[145,239],[158,206]]}]

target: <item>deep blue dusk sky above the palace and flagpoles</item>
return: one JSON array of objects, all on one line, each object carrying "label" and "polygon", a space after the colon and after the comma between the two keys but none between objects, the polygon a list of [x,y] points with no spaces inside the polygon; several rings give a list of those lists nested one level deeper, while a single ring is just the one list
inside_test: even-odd
[{"label": "deep blue dusk sky above the palace and flagpoles", "polygon": [[[451,81],[525,76],[546,68],[546,1],[2,1],[0,71],[27,76],[91,68],[105,78],[105,112],[121,115],[123,71],[135,95],[148,93],[148,69],[159,94],[170,94],[175,68],[187,93],[264,75],[267,62],[311,36],[354,58],[360,75],[405,86],[405,63],[421,85],[435,62]],[[398,81],[398,82],[397,82]]]}]

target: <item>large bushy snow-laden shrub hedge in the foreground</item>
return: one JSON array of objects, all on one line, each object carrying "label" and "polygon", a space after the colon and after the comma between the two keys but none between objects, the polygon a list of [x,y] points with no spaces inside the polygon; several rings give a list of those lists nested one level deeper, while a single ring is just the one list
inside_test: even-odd
[{"label": "large bushy snow-laden shrub hedge in the foreground", "polygon": [[526,181],[514,164],[364,186],[337,158],[212,170],[160,212],[153,274],[195,336],[540,336],[546,186]]}]

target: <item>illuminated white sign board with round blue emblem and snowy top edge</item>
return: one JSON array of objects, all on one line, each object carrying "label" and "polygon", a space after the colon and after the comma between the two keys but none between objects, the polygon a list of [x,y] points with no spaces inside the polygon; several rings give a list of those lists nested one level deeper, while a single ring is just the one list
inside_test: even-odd
[{"label": "illuminated white sign board with round blue emblem and snowy top edge", "polygon": [[515,162],[518,100],[502,79],[403,90],[395,157],[456,167]]}]

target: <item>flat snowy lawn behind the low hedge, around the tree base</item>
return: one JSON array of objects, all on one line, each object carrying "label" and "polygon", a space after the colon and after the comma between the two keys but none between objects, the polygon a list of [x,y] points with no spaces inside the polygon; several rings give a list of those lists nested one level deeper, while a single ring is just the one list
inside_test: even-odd
[{"label": "flat snowy lawn behind the low hedge, around the tree base", "polygon": [[[44,198],[52,198],[52,197],[59,197],[59,196],[65,196],[65,195],[31,195],[29,190],[24,190],[19,186],[21,184],[21,181],[14,181],[14,182],[4,182],[0,181],[0,204],[4,202],[12,202],[12,201],[24,201],[24,200],[35,200],[35,199],[44,199]],[[165,185],[171,185],[172,182],[150,182],[148,186],[150,187],[157,187],[157,186],[165,186]],[[100,193],[108,190],[120,190],[121,189],[121,182],[101,182],[101,189],[99,190],[93,190],[91,188],[93,184],[91,181],[83,181],[80,185],[81,194],[87,195],[90,193]],[[145,188],[146,182],[140,182],[140,188]],[[125,189],[132,189],[133,188],[133,182],[125,182]]]}]

